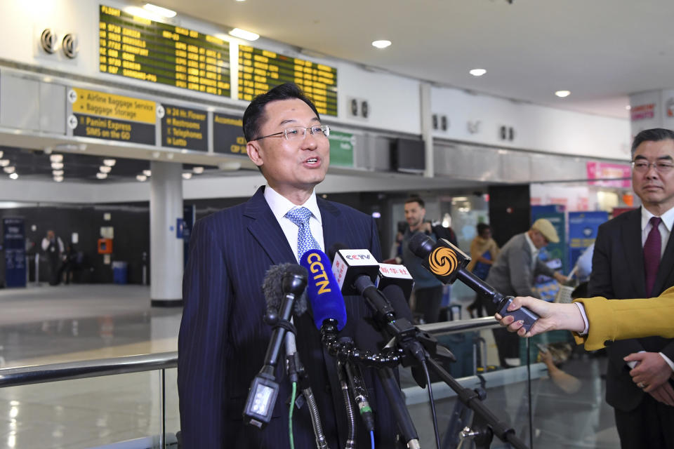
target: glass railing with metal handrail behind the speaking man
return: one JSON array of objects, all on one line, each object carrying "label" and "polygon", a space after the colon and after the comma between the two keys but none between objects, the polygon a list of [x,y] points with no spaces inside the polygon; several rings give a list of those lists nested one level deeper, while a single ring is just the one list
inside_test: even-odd
[{"label": "glass railing with metal handrail behind the speaking man", "polygon": [[[590,407],[602,401],[596,384],[583,389],[584,393],[571,391],[576,386],[569,378],[562,387],[557,386],[556,380],[548,378],[546,364],[536,363],[533,356],[529,365],[523,358],[522,366],[497,368],[491,328],[498,323],[491,317],[419,327],[454,353],[456,363],[445,368],[457,382],[468,389],[480,389],[484,405],[527,445],[534,442],[535,447],[565,447],[537,443],[564,431],[559,422],[538,419],[531,413],[536,406],[555,400],[550,389],[566,388],[569,395],[586,394],[584,404]],[[526,354],[527,340],[521,341],[522,354]],[[534,354],[538,346],[529,341]],[[0,436],[0,448],[177,448],[180,420],[176,366],[177,353],[167,352],[1,369],[0,413],[6,407],[8,427],[0,434],[4,434]],[[598,371],[595,374],[598,378]],[[433,448],[427,390],[417,386],[407,368],[401,368],[400,375],[421,448]],[[480,429],[481,420],[461,405],[456,392],[445,382],[435,377],[432,387],[442,449],[471,447],[466,443],[459,446],[461,431],[464,427]],[[534,421],[532,434],[529,429]],[[586,424],[583,429],[588,431],[591,426]],[[586,436],[582,431],[574,436],[567,431],[564,437]],[[491,447],[508,446],[494,437]]]}]

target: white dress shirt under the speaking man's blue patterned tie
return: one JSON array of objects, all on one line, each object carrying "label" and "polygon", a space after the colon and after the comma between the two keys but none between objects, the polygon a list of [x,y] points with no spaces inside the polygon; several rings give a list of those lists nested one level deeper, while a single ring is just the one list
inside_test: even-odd
[{"label": "white dress shirt under the speaking man's blue patterned tie", "polygon": [[279,225],[281,225],[283,234],[286,236],[286,240],[293,249],[293,254],[295,255],[296,259],[298,226],[285,216],[286,213],[288,213],[289,210],[293,208],[305,207],[311,210],[311,217],[309,219],[311,235],[314,236],[314,239],[322,249],[325,248],[325,243],[323,240],[323,220],[321,218],[321,211],[318,209],[318,203],[316,202],[315,191],[311,192],[311,196],[307,201],[305,201],[304,204],[297,206],[285,196],[282,196],[267,185],[267,187],[265,187],[265,200],[272,210],[272,213],[276,217],[276,220],[279,222]]}]

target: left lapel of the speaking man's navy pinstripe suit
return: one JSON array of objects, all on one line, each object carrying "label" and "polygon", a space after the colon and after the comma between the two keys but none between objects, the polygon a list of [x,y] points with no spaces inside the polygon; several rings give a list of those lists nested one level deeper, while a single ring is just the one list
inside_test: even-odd
[{"label": "left lapel of the speaking man's navy pinstripe suit", "polygon": [[246,203],[244,215],[252,219],[248,230],[270,257],[272,264],[294,262],[295,253],[265,200],[264,190],[264,187],[260,187]]}]

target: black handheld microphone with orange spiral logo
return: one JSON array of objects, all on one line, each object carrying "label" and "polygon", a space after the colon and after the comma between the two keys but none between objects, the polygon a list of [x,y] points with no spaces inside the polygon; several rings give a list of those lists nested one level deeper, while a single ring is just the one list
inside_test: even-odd
[{"label": "black handheld microphone with orange spiral logo", "polygon": [[453,283],[456,279],[460,279],[461,282],[473,289],[478,295],[488,297],[494,304],[498,304],[496,307],[501,316],[511,315],[515,321],[522,320],[524,322],[522,327],[527,332],[538,320],[538,315],[527,309],[527,307],[508,311],[508,305],[510,305],[510,302],[513,302],[513,297],[499,293],[494,287],[466,270],[465,266],[470,262],[470,257],[449,243],[449,241],[438,239],[436,243],[430,237],[417,233],[410,239],[409,249],[422,259],[421,264],[423,267],[431,272],[440,282],[448,284]]}]

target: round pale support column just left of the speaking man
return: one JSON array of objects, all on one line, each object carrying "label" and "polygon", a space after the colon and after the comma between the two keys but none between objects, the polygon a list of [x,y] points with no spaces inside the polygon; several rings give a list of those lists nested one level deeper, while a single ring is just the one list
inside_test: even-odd
[{"label": "round pale support column just left of the speaking man", "polygon": [[183,304],[183,239],[178,239],[178,218],[183,218],[183,166],[150,163],[150,298],[152,306]]}]

